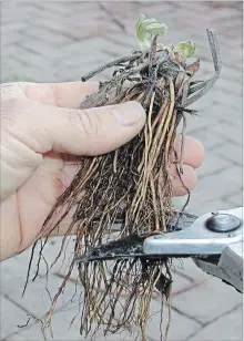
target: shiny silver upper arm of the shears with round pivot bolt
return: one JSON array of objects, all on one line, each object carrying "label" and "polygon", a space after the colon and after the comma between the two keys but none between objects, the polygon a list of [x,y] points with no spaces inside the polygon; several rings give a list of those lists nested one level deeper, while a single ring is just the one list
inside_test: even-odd
[{"label": "shiny silver upper arm of the shears with round pivot bolt", "polygon": [[242,241],[242,208],[207,213],[199,217],[187,229],[149,236],[144,241],[143,251],[152,256],[220,256],[226,246]]}]

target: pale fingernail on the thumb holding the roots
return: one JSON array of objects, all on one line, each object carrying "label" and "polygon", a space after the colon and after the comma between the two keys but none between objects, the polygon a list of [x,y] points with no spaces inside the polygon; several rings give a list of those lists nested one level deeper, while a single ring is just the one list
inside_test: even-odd
[{"label": "pale fingernail on the thumb holding the roots", "polygon": [[116,121],[125,126],[133,125],[145,116],[145,112],[139,102],[132,101],[114,106]]}]

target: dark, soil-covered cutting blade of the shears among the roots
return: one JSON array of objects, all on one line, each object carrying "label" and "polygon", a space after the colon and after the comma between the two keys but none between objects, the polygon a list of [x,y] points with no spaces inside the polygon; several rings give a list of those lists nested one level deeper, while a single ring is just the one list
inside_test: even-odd
[{"label": "dark, soil-covered cutting blade of the shears among the roots", "polygon": [[[190,214],[182,214],[175,211],[171,221],[169,230],[175,231],[185,229],[191,226],[197,217]],[[121,225],[121,223],[120,223]],[[120,226],[121,229],[121,226]],[[116,229],[114,229],[116,230]],[[84,254],[83,256],[75,259],[77,262],[90,262],[95,260],[110,260],[110,259],[129,259],[134,257],[146,257],[143,252],[143,242],[145,236],[131,235],[118,240],[109,241],[102,244],[101,246],[94,248],[91,252]],[[161,257],[162,258],[162,257]]]}]

